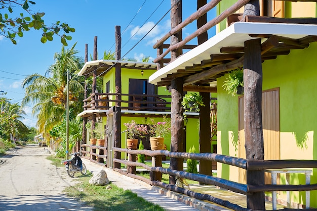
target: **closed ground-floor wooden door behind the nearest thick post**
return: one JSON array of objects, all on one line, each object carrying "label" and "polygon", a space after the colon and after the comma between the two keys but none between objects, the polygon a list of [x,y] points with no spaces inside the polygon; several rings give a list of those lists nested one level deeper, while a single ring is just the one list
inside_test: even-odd
[{"label": "closed ground-floor wooden door behind the nearest thick post", "polygon": [[[244,103],[239,97],[239,157],[246,158],[244,133]],[[262,125],[264,138],[264,160],[280,160],[280,90],[270,89],[262,92]],[[278,179],[279,181],[279,179]],[[239,169],[239,182],[246,183],[246,170]],[[265,184],[271,177],[265,173]]]}]

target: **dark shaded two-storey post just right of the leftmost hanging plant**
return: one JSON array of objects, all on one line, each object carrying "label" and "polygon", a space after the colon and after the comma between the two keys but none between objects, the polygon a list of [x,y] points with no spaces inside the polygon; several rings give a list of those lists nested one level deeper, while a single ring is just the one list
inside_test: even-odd
[{"label": "dark shaded two-storey post just right of the leftmost hanging plant", "polygon": [[[207,4],[207,0],[197,0],[197,10]],[[207,13],[197,20],[197,29],[207,23]],[[208,40],[208,32],[197,36],[198,44],[202,44]],[[208,84],[207,84],[208,85]],[[203,97],[205,107],[200,107],[199,113],[199,151],[200,153],[211,153],[211,128],[210,128],[210,93],[200,92]],[[200,174],[212,176],[212,162],[201,160],[199,163]],[[200,182],[201,185],[204,183]]]}]

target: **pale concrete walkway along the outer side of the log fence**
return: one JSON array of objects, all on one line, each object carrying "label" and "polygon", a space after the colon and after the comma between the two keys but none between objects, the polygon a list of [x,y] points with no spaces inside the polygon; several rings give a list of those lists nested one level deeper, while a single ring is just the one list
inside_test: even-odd
[{"label": "pale concrete walkway along the outer side of the log fence", "polygon": [[[93,174],[103,169],[107,173],[109,180],[116,186],[125,190],[129,189],[145,200],[159,204],[166,210],[228,210],[208,202],[184,196],[183,194],[173,193],[172,191],[167,191],[167,194],[163,195],[159,193],[161,188],[150,186],[145,182],[124,176],[118,172],[104,168],[85,159],[83,159],[83,162],[85,163],[87,169]],[[180,200],[190,204],[191,206],[181,203]]]}]

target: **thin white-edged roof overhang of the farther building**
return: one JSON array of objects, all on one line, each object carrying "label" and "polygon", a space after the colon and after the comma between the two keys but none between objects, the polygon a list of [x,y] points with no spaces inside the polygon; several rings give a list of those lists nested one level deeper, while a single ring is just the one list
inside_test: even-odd
[{"label": "thin white-edged roof overhang of the farther building", "polygon": [[120,64],[121,68],[137,69],[137,70],[156,70],[157,65],[154,63],[122,61],[122,60],[95,60],[86,62],[78,75],[91,76],[94,70],[98,75],[105,75],[109,70],[114,68],[115,64]]}]

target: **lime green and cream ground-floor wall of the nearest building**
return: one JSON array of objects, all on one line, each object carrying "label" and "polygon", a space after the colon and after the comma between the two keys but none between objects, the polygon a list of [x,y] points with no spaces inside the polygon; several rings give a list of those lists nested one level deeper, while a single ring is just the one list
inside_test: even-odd
[{"label": "lime green and cream ground-floor wall of the nearest building", "polygon": [[[278,56],[278,59],[265,61],[262,65],[263,90],[280,88],[281,160],[317,159],[316,50],[317,43],[311,43],[304,50],[292,50],[290,55]],[[238,99],[226,94],[221,88],[225,77],[217,81],[218,152],[236,156]],[[227,165],[218,165],[218,171],[217,175],[225,179],[229,179],[229,175],[237,175],[237,170],[231,170]],[[316,182],[317,170],[313,169],[311,183]],[[284,175],[281,175],[281,184],[285,184]],[[305,184],[304,174],[292,174],[291,184]],[[317,191],[311,191],[312,207],[317,207],[317,200],[313,200],[317,198],[316,194]],[[280,197],[284,196],[285,192],[282,192]],[[305,203],[305,193],[291,192],[291,201]]]}]

